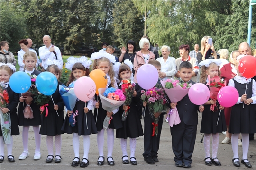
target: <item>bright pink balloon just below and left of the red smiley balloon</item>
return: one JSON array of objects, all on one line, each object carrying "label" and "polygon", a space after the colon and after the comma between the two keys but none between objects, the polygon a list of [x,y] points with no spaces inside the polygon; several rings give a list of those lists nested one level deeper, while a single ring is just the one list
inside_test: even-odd
[{"label": "bright pink balloon just below and left of the red smiley balloon", "polygon": [[225,86],[219,90],[217,100],[221,106],[232,107],[238,102],[238,90],[232,86]]}]

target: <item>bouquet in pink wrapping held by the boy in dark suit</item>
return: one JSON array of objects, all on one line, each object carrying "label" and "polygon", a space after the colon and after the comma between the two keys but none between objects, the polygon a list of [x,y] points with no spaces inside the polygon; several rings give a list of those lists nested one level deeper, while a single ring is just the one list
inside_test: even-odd
[{"label": "bouquet in pink wrapping held by the boy in dark suit", "polygon": [[[178,79],[167,79],[166,81],[161,80],[161,84],[171,102],[174,103],[181,101],[183,97],[188,94],[189,88],[191,87],[191,84],[185,83]],[[181,122],[176,107],[169,111],[167,120],[171,127],[173,127],[174,124],[177,125]]]}]

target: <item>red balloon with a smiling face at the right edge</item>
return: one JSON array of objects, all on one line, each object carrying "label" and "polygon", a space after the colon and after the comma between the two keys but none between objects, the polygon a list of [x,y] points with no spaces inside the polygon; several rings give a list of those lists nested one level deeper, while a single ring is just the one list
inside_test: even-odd
[{"label": "red balloon with a smiling face at the right edge", "polygon": [[252,78],[256,75],[256,58],[247,55],[240,59],[238,63],[238,70],[245,78]]}]

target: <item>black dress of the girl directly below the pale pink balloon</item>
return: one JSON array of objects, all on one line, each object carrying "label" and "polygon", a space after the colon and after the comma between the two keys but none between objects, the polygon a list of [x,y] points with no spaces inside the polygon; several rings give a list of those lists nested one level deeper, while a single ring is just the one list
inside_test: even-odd
[{"label": "black dress of the girl directly below the pale pink balloon", "polygon": [[[88,102],[86,102],[86,107]],[[66,115],[63,126],[61,130],[63,130],[67,134],[78,133],[78,135],[90,135],[96,134],[97,128],[95,125],[95,121],[92,115],[92,111],[90,110],[88,113],[84,113],[85,103],[83,101],[77,101],[73,112],[78,111],[78,115],[75,117],[76,123],[75,126],[72,127],[69,125],[69,117]],[[86,115],[86,116],[85,116]],[[87,117],[87,125],[86,125],[86,117]]]}]

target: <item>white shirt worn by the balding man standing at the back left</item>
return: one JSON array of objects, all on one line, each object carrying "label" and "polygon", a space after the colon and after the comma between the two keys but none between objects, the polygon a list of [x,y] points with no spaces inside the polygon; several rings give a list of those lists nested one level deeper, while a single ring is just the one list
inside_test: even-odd
[{"label": "white shirt worn by the balding man standing at the back left", "polygon": [[61,60],[62,64],[63,64],[63,60],[62,60],[62,57],[61,57],[60,49],[58,47],[54,46],[54,51],[57,54],[57,58],[56,58],[55,54],[53,52],[49,51],[51,47],[52,47],[52,44],[51,44],[51,46],[49,48],[47,48],[46,46],[43,46],[43,47],[39,48],[39,57],[40,57],[40,59],[42,59],[42,66],[44,66],[44,63],[48,59],[53,61],[54,59],[57,59],[57,58],[58,58],[58,60]]}]

